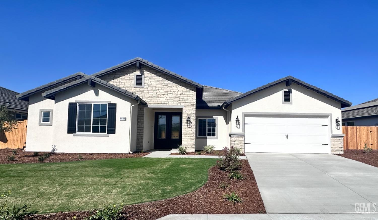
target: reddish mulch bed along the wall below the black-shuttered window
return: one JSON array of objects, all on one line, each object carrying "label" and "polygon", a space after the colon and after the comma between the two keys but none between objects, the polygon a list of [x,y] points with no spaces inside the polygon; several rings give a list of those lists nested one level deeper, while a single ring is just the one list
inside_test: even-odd
[{"label": "reddish mulch bed along the wall below the black-shuttered window", "polygon": [[[81,160],[99,160],[99,159],[114,159],[114,158],[129,158],[142,157],[149,153],[51,153],[39,152],[38,156],[45,153],[50,154],[43,162],[38,160],[38,156],[34,156],[34,152],[22,152],[21,149],[15,149],[16,154],[13,154],[14,149],[0,149],[0,164],[6,163],[46,163],[46,162],[64,162],[64,161],[81,161]],[[8,156],[14,156],[15,160],[8,160]]]}]

